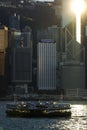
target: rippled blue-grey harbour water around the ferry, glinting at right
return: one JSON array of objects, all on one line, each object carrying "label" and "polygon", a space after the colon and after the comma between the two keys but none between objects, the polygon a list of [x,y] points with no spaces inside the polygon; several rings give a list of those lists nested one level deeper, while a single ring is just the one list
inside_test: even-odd
[{"label": "rippled blue-grey harbour water around the ferry, glinting at right", "polygon": [[87,101],[70,102],[69,118],[10,118],[5,114],[6,103],[0,102],[0,130],[87,130]]}]

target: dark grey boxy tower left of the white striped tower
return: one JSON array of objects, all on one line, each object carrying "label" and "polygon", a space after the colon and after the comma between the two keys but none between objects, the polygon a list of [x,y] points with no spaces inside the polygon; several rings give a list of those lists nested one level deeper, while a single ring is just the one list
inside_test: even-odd
[{"label": "dark grey boxy tower left of the white striped tower", "polygon": [[32,41],[31,32],[13,31],[10,39],[12,60],[12,81],[29,83],[32,81]]}]

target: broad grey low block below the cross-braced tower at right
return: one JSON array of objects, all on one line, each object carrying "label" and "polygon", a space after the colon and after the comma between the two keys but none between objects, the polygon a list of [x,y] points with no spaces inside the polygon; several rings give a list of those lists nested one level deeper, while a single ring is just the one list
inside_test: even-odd
[{"label": "broad grey low block below the cross-braced tower at right", "polygon": [[85,67],[84,64],[63,64],[62,87],[67,89],[85,89]]}]

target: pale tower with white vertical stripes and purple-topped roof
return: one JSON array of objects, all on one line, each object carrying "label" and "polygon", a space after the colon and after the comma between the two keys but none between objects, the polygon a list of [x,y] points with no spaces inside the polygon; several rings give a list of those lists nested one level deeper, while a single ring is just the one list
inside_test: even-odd
[{"label": "pale tower with white vertical stripes and purple-topped roof", "polygon": [[52,40],[37,45],[37,85],[39,90],[56,90],[56,43]]}]

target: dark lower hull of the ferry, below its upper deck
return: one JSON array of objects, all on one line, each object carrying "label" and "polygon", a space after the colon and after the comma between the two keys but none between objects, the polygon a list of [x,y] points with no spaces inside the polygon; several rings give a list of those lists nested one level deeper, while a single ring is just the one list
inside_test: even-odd
[{"label": "dark lower hull of the ferry, below its upper deck", "polygon": [[70,117],[71,111],[49,111],[30,110],[30,111],[6,111],[9,117]]}]

